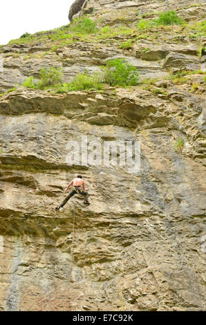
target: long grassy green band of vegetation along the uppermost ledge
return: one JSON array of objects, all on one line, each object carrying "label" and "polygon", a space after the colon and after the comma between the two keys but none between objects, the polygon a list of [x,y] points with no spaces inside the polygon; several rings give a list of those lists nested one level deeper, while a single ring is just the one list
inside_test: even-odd
[{"label": "long grassy green band of vegetation along the uppermost ledge", "polygon": [[[76,41],[98,42],[101,40],[111,39],[115,36],[127,36],[136,34],[136,39],[147,37],[147,33],[155,28],[161,30],[162,28],[171,28],[174,24],[182,25],[187,29],[189,37],[198,39],[205,35],[206,22],[196,22],[195,24],[187,24],[178,17],[174,10],[167,12],[158,12],[158,19],[143,19],[147,17],[147,13],[141,17],[137,17],[137,26],[128,26],[127,19],[122,24],[115,24],[115,26],[101,26],[101,21],[93,21],[88,17],[80,17],[74,19],[71,24],[48,30],[45,32],[37,32],[34,35],[26,32],[21,35],[19,39],[12,39],[9,44],[33,44],[37,42],[55,43],[57,48],[66,46],[67,44],[75,43]],[[146,35],[142,35],[142,30]],[[127,44],[126,44],[126,47]]]}]

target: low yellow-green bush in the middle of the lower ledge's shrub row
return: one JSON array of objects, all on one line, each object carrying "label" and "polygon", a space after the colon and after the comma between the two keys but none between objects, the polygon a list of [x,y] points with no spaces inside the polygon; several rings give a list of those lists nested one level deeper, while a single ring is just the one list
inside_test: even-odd
[{"label": "low yellow-green bush in the middle of the lower ledge's shrub row", "polygon": [[67,86],[68,91],[83,91],[83,90],[100,90],[102,83],[98,75],[88,75],[88,73],[79,73],[73,81]]}]

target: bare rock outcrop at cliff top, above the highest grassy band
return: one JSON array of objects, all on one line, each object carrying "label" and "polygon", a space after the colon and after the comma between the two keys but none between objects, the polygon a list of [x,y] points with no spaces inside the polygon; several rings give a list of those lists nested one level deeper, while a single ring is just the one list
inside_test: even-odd
[{"label": "bare rock outcrop at cliff top, above the highest grassy band", "polygon": [[[200,5],[200,6],[199,6]],[[202,6],[203,7],[202,7]],[[82,14],[97,15],[98,19],[105,24],[113,25],[121,21],[136,21],[138,14],[147,13],[147,17],[156,15],[155,12],[164,12],[167,10],[177,10],[178,15],[185,21],[198,20],[205,18],[205,1],[198,0],[194,3],[187,1],[141,1],[141,0],[76,0],[71,7],[69,19],[77,18]]]}]

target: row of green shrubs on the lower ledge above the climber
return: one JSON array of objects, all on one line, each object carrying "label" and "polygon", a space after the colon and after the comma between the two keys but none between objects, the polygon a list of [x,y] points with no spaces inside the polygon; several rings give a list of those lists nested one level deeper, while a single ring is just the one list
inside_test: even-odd
[{"label": "row of green shrubs on the lower ledge above the climber", "polygon": [[135,86],[138,84],[139,73],[125,59],[113,59],[102,66],[100,73],[88,75],[87,72],[79,73],[70,83],[62,83],[62,68],[41,68],[40,81],[34,83],[33,77],[28,77],[23,86],[30,89],[55,89],[55,93],[68,91],[101,90],[103,83],[112,86]]}]

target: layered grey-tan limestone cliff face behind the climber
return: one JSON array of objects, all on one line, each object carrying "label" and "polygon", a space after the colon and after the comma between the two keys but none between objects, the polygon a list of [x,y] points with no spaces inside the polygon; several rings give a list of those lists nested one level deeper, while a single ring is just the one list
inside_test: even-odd
[{"label": "layered grey-tan limestone cliff face behind the climber", "polygon": [[[109,26],[122,17],[136,24],[137,10],[153,17],[174,9],[201,21],[205,8],[204,1],[84,2],[74,2],[70,19],[84,14]],[[0,310],[205,310],[204,37],[179,28],[129,50],[119,41],[132,35],[46,55],[45,41],[1,48]],[[157,78],[155,86],[4,93],[30,75],[38,80],[43,66],[62,66],[68,82],[115,57],[136,66],[141,80]],[[184,82],[167,79],[185,70],[192,73]],[[99,164],[71,163],[71,141],[79,153],[87,141],[88,155],[99,146]],[[104,162],[104,144],[121,141],[140,142],[140,170]],[[56,212],[77,174],[91,205],[76,195]]]}]

